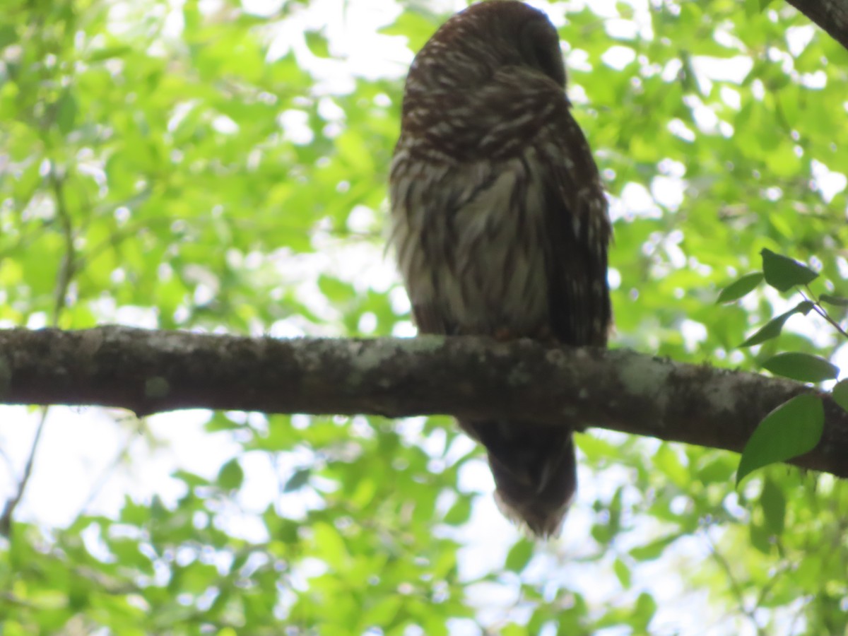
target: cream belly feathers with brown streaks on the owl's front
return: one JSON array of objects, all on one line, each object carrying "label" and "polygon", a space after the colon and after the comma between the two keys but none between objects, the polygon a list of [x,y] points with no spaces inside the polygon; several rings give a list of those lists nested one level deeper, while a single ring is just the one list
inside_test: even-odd
[{"label": "cream belly feathers with brown streaks on the owl's front", "polygon": [[534,152],[393,180],[392,242],[413,306],[468,333],[529,335],[548,324],[544,188],[526,170]]}]

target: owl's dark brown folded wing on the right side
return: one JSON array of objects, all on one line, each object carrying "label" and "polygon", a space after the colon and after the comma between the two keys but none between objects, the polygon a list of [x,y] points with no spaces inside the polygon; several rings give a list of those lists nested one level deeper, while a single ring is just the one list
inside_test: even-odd
[{"label": "owl's dark brown folded wing on the right side", "polygon": [[545,183],[544,246],[551,331],[563,343],[606,343],[612,314],[606,281],[611,226],[589,144],[571,113],[556,128],[561,153]]}]

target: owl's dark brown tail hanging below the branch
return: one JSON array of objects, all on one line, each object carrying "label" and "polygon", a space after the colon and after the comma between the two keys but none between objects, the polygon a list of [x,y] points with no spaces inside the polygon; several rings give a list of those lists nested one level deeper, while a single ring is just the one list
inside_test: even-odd
[{"label": "owl's dark brown tail hanging below the branch", "polygon": [[460,426],[488,451],[501,512],[538,537],[558,533],[577,489],[572,432],[524,421],[460,421]]}]

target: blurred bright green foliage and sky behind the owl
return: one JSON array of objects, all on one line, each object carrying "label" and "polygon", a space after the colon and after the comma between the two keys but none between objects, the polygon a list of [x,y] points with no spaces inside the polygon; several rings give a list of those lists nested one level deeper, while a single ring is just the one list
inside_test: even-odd
[{"label": "blurred bright green foliage and sky behind the owl", "polygon": [[[761,4],[549,7],[611,196],[614,346],[840,366],[848,53]],[[403,45],[445,14],[379,7],[369,33],[358,3],[3,3],[0,324],[410,334],[382,255],[385,178]],[[764,250],[817,277],[779,292]],[[155,417],[6,409],[0,448],[25,431],[38,450],[58,434],[46,422],[92,417],[125,443],[75,482],[66,522],[47,522],[31,488],[62,487],[63,466],[3,452],[4,634],[848,627],[848,487],[834,478],[774,465],[735,491],[737,456],[589,432],[563,538],[531,544],[444,417],[204,414],[228,453],[177,462],[168,493],[144,488],[144,462],[179,452]],[[120,475],[126,494],[107,505],[98,489]]]}]

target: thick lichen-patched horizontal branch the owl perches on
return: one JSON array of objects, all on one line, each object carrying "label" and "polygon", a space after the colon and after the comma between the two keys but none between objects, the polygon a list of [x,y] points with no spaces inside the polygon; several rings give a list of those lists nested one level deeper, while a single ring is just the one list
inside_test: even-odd
[{"label": "thick lichen-patched horizontal branch the owl perches on", "polygon": [[[388,417],[444,413],[603,427],[739,451],[797,382],[625,349],[488,338],[243,338],[102,326],[0,330],[0,403]],[[791,463],[848,477],[848,413],[823,395],[817,448]]]}]

